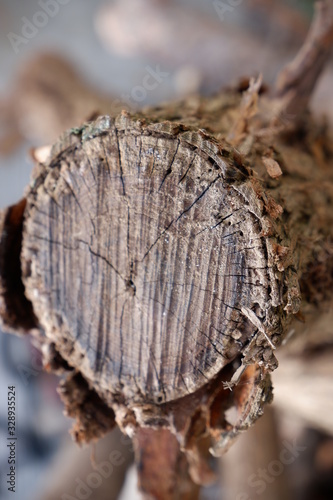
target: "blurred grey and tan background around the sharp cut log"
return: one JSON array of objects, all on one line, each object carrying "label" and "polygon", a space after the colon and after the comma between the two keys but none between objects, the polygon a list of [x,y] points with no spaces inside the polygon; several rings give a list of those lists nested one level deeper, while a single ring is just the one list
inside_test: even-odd
[{"label": "blurred grey and tan background around the sharp cut log", "polygon": [[[305,0],[0,0],[0,208],[22,197],[32,148],[51,144],[94,113],[209,95],[258,73],[274,85],[302,44],[312,13],[313,2]],[[332,84],[331,64],[312,101],[330,122]],[[292,361],[282,349],[275,403],[215,462],[218,479],[203,489],[203,500],[333,498],[331,319],[327,311],[324,340],[319,347],[313,342],[306,363],[302,346],[294,346]],[[43,373],[38,351],[29,339],[4,333],[0,344],[0,498],[139,498],[131,444],[114,431],[93,450],[76,447],[57,379]],[[15,494],[5,477],[12,385],[19,438]],[[100,462],[112,450],[121,464],[92,486],[91,453]],[[288,463],[281,462],[284,450]]]}]

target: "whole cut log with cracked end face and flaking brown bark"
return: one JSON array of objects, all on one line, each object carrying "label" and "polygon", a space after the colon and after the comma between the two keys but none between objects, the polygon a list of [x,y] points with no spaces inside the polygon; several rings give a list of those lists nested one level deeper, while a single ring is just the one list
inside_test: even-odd
[{"label": "whole cut log with cracked end face and flaking brown bark", "polygon": [[134,436],[148,497],[158,446],[160,498],[212,481],[207,450],[262,414],[275,349],[332,300],[330,131],[310,114],[276,125],[274,99],[258,79],[101,116],[35,154],[1,216],[3,325],[71,371],[79,441],[115,421]]}]

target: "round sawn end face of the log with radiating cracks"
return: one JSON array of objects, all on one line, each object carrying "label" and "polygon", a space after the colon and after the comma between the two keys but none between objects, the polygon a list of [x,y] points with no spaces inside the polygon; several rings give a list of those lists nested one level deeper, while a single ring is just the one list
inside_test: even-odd
[{"label": "round sawn end face of the log with radiating cracks", "polygon": [[26,294],[61,355],[99,391],[170,401],[256,336],[267,348],[260,325],[279,333],[260,203],[231,149],[168,122],[101,117],[68,133],[38,169]]}]

